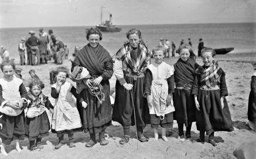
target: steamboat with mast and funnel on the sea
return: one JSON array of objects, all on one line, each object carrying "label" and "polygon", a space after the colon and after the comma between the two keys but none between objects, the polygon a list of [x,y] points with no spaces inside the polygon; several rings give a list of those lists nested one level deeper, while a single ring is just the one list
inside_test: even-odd
[{"label": "steamboat with mast and funnel on the sea", "polygon": [[[102,6],[101,6],[101,22],[102,22]],[[110,14],[110,20],[106,20],[105,23],[98,24],[96,26],[98,29],[100,29],[103,32],[119,32],[121,31],[120,27],[117,27],[112,24],[112,14]]]}]

